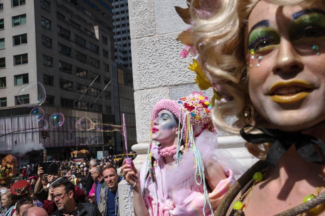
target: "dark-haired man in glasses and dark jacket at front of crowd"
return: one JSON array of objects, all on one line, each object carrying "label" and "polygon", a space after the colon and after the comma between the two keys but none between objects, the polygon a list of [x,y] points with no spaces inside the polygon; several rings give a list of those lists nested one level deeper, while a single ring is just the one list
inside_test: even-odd
[{"label": "dark-haired man in glasses and dark jacket at front of crowd", "polygon": [[57,180],[53,185],[53,199],[58,207],[51,216],[101,216],[98,208],[89,203],[74,199],[75,186],[66,178]]}]

